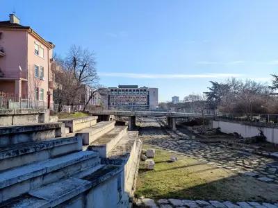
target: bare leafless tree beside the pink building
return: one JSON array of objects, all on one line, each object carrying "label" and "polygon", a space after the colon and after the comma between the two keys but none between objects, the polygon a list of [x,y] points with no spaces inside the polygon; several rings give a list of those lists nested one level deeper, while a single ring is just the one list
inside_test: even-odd
[{"label": "bare leafless tree beside the pink building", "polygon": [[58,110],[63,105],[80,104],[84,86],[97,89],[99,77],[95,64],[94,53],[81,46],[72,46],[65,58],[57,58],[58,67],[54,71],[58,87],[54,90],[54,102],[59,104]]}]

